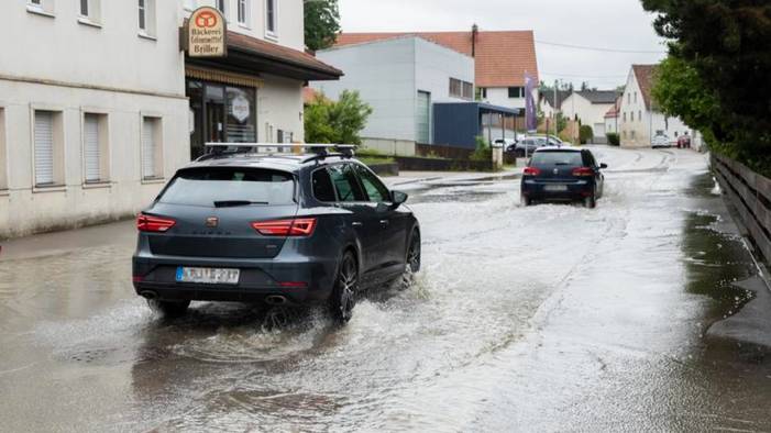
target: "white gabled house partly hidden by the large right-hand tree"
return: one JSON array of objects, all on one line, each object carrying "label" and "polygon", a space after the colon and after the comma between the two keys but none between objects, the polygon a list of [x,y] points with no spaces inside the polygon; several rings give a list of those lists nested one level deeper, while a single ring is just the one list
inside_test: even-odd
[{"label": "white gabled house partly hidden by the large right-hand tree", "polygon": [[672,143],[686,133],[694,136],[694,132],[680,119],[669,118],[656,110],[651,98],[654,68],[654,65],[632,65],[629,71],[619,107],[624,147],[648,147],[651,137],[657,134],[665,134]]}]

